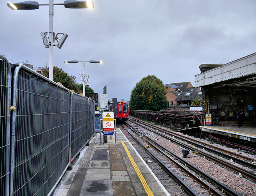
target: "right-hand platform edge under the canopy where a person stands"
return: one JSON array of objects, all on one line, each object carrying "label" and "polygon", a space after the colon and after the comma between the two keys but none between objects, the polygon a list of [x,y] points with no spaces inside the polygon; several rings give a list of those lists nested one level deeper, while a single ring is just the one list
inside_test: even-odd
[{"label": "right-hand platform edge under the canopy where a person stands", "polygon": [[200,129],[208,133],[216,133],[256,143],[256,127],[254,126],[244,126],[243,128],[237,126],[200,126]]}]

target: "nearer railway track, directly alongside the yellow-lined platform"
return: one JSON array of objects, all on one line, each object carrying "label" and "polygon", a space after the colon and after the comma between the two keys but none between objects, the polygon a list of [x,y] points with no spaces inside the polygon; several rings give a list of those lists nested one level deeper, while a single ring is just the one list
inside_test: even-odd
[{"label": "nearer railway track, directly alongside the yellow-lined platform", "polygon": [[[240,195],[208,174],[200,171],[184,159],[178,157],[168,149],[162,147],[154,141],[157,139],[154,137],[154,134],[148,134],[143,130],[138,130],[137,127],[134,128],[131,125],[126,125],[129,126],[130,130],[133,130],[128,131],[128,133],[138,144],[135,145],[136,143],[133,142],[136,150],[138,152],[146,151],[148,155],[156,161],[157,165],[161,166],[166,174],[171,176],[171,178],[177,183],[179,188],[177,188],[177,186],[174,186],[174,188],[167,188],[168,191],[172,192],[172,195],[177,191],[177,189],[181,188],[185,192],[182,193],[182,195],[198,195],[197,192],[200,192],[199,194],[202,194],[203,192],[204,194],[212,194],[216,196],[223,196],[223,194],[232,196]],[[128,135],[126,134],[126,137],[127,136]],[[151,148],[148,149],[147,145],[150,145]],[[142,148],[142,150],[138,149],[138,146]],[[163,172],[156,172],[156,174],[160,175],[163,174]],[[203,180],[201,178],[203,178]],[[212,185],[209,185],[206,182],[210,182]],[[166,182],[163,182],[163,185],[165,183]],[[204,190],[202,191],[202,189]],[[181,193],[179,192],[177,195],[181,195]]]}]

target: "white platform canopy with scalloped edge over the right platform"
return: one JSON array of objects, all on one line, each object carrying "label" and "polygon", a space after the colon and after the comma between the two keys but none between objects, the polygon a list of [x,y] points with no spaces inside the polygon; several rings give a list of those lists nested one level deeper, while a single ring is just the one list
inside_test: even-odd
[{"label": "white platform canopy with scalloped edge over the right platform", "polygon": [[195,87],[256,87],[256,53],[195,75]]}]

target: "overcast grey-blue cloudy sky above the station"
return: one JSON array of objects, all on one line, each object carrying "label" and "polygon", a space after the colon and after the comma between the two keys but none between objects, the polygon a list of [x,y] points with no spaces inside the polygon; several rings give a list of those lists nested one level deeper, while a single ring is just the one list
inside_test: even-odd
[{"label": "overcast grey-blue cloudy sky above the station", "polygon": [[[21,0],[22,1],[22,0]],[[40,32],[49,31],[49,6],[11,10],[0,2],[0,53],[10,63],[44,67],[49,50]],[[13,2],[19,2],[14,0]],[[54,0],[63,3],[64,0]],[[256,52],[255,0],[93,0],[94,9],[54,6],[54,32],[66,33],[54,47],[54,66],[77,77],[85,64],[90,87],[108,98],[130,100],[143,77],[164,84],[191,82],[201,64],[226,64]],[[38,0],[48,4],[48,0]]]}]

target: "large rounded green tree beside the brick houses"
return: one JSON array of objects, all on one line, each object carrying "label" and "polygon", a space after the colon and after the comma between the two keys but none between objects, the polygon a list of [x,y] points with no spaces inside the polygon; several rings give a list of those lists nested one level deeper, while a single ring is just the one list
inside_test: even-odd
[{"label": "large rounded green tree beside the brick houses", "polygon": [[162,80],[148,75],[136,83],[130,96],[130,110],[162,110],[167,108],[167,98]]}]

